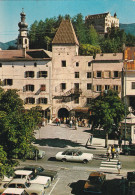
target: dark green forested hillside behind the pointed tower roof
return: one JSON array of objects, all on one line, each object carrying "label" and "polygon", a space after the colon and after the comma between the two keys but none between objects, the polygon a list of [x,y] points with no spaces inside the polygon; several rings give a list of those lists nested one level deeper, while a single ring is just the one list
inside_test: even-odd
[{"label": "dark green forested hillside behind the pointed tower roof", "polygon": [[45,21],[35,21],[29,30],[30,48],[44,48],[51,50],[51,43],[62,19],[70,19],[78,41],[80,43],[80,54],[95,55],[96,53],[122,52],[123,45],[134,46],[135,36],[126,34],[123,29],[108,29],[104,35],[97,34],[93,26],[86,26],[82,14],[73,18],[69,15],[57,18],[47,18]]}]

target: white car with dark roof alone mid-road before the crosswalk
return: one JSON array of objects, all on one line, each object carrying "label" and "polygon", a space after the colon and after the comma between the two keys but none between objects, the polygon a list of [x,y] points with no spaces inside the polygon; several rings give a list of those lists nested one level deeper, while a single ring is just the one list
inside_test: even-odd
[{"label": "white car with dark roof alone mid-road before the crosswalk", "polygon": [[57,160],[62,160],[64,162],[75,161],[75,162],[87,163],[93,159],[93,154],[83,153],[77,149],[68,149],[65,150],[64,152],[58,152],[55,157]]}]

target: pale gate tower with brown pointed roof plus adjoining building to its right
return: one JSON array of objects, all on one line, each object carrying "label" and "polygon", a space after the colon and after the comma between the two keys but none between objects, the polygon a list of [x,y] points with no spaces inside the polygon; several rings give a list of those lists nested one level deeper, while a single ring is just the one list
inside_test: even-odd
[{"label": "pale gate tower with brown pointed roof plus adjoining building to its right", "polygon": [[123,54],[79,56],[79,43],[70,21],[63,20],[52,42],[53,118],[87,110],[91,99],[114,89],[121,96]]}]

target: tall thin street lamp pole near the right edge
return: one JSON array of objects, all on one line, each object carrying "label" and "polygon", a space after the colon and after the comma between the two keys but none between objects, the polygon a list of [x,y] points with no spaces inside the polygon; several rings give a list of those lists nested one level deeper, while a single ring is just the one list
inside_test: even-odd
[{"label": "tall thin street lamp pole near the right edge", "polygon": [[127,62],[133,62],[134,60],[127,60],[125,59],[124,62],[125,63],[125,131],[124,131],[124,145],[126,145],[126,129],[127,129],[127,124],[126,124],[126,117],[127,117],[127,97],[126,97],[126,93],[127,93]]}]

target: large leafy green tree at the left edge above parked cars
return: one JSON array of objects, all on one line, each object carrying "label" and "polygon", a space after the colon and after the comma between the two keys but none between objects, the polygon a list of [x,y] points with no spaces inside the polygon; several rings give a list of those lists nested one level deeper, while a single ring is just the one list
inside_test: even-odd
[{"label": "large leafy green tree at the left edge above parked cars", "polygon": [[39,108],[25,111],[16,90],[0,88],[0,163],[5,167],[0,167],[1,174],[10,172],[14,157],[25,159],[35,139],[34,129],[40,121]]}]

